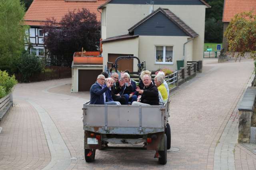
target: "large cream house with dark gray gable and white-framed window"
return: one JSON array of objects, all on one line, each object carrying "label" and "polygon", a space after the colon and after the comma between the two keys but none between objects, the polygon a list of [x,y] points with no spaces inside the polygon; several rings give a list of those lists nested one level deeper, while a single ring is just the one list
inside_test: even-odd
[{"label": "large cream house with dark gray gable and white-framed window", "polygon": [[[136,56],[146,69],[177,70],[177,62],[202,61],[205,10],[203,0],[108,0],[102,10],[103,66],[119,56]],[[137,60],[118,70],[137,71]]]}]

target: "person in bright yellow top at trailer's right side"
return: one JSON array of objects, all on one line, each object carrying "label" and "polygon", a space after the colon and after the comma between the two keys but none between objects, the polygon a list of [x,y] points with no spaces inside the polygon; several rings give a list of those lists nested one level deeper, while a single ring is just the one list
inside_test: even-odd
[{"label": "person in bright yellow top at trailer's right side", "polygon": [[164,86],[164,78],[162,76],[156,76],[155,83],[159,91],[159,102],[164,105],[168,100],[167,90]]}]

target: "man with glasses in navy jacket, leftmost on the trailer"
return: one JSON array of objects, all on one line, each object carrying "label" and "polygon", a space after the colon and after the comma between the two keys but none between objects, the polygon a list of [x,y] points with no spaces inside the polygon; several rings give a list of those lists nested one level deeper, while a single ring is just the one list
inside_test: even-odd
[{"label": "man with glasses in navy jacket, leftmost on the trailer", "polygon": [[105,76],[100,74],[97,77],[97,81],[92,84],[90,88],[90,104],[113,104],[116,102],[106,102],[105,92],[111,87],[111,82],[107,82],[104,87]]}]

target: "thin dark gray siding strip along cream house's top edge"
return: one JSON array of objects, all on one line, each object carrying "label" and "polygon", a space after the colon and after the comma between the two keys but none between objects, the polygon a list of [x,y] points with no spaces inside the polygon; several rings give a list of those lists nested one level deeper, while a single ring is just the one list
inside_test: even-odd
[{"label": "thin dark gray siding strip along cream house's top edge", "polygon": [[[156,5],[205,5],[200,0],[153,0]],[[112,0],[109,4],[150,4],[150,0]]]}]

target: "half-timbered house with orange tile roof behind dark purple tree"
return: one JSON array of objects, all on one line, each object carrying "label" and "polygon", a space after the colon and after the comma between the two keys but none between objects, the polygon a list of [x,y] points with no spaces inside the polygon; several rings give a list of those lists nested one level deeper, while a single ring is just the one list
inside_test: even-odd
[{"label": "half-timbered house with orange tile roof behind dark purple tree", "polygon": [[[30,28],[26,31],[29,35],[28,41],[32,47],[30,53],[44,57],[44,36],[42,26],[48,19],[55,18],[60,22],[62,17],[69,11],[86,8],[91,13],[95,13],[97,20],[100,22],[100,10],[97,7],[106,2],[106,0],[34,0],[24,16],[24,23]],[[25,45],[28,49],[28,43]]]}]

